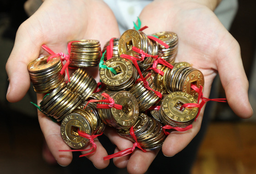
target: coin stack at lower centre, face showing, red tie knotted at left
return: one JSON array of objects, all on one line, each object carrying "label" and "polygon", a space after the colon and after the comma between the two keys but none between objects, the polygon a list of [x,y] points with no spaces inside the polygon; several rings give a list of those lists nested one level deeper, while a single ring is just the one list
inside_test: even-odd
[{"label": "coin stack at lower centre, face showing, red tie knotted at left", "polygon": [[[128,91],[119,91],[119,92],[107,92],[107,94],[114,99],[114,103],[122,105],[122,109],[116,109],[111,107],[109,109],[98,108],[99,116],[102,121],[117,129],[126,129],[132,127],[139,115],[139,105],[136,98]],[[105,100],[102,96],[100,100]],[[98,104],[109,103],[99,102]]]}]

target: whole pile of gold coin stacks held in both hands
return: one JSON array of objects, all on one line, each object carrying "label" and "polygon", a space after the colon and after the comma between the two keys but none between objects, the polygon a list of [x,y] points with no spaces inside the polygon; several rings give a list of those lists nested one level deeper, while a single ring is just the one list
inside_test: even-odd
[{"label": "whole pile of gold coin stacks held in both hands", "polygon": [[[116,128],[120,136],[135,142],[130,132],[132,127],[137,142],[149,151],[161,148],[166,138],[162,124],[186,127],[195,120],[199,111],[197,107],[180,108],[187,103],[196,103],[198,93],[191,86],[203,86],[203,75],[189,63],[174,63],[178,47],[175,33],[158,32],[153,35],[169,48],[158,44],[142,31],[133,29],[104,45],[103,52],[111,51],[107,54],[112,54],[112,57],[106,60],[107,54],[104,55],[105,62],[101,64],[99,75],[105,87],[99,92],[95,92],[95,79],[84,69],[98,66],[101,48],[97,40],[70,42],[69,67],[76,70],[67,83],[63,82],[64,75],[59,75],[62,68],[60,57],[51,58],[47,63],[49,56],[46,56],[30,63],[28,70],[35,91],[49,93],[40,102],[40,110],[62,121],[61,136],[67,145],[76,149],[83,148],[89,140],[80,136],[79,131],[96,135],[108,125]],[[110,44],[113,44],[112,50],[107,49]],[[135,51],[134,47],[141,52]],[[137,58],[135,63],[139,68],[131,60],[121,58],[122,54]],[[173,65],[173,68],[157,65],[163,75],[148,70],[157,56]],[[140,71],[143,77],[138,75]],[[49,89],[46,90],[46,87]],[[163,95],[162,99],[159,94]],[[111,100],[105,98],[106,95]],[[115,105],[121,105],[122,109],[117,109]],[[150,110],[150,116],[147,116],[145,112],[152,106],[159,106],[160,110]]]}]

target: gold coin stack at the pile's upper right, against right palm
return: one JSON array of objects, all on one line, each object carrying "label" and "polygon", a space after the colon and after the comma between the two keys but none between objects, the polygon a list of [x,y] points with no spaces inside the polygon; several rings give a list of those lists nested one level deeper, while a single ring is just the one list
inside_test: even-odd
[{"label": "gold coin stack at the pile's upper right, against right palm", "polygon": [[157,32],[153,34],[157,36],[161,41],[165,42],[169,48],[158,44],[158,56],[163,58],[169,63],[174,63],[175,55],[178,50],[178,37],[174,32]]}]

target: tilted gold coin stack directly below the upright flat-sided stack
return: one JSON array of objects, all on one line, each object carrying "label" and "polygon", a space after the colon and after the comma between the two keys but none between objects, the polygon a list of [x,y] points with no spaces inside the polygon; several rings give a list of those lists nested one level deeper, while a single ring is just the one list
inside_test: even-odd
[{"label": "tilted gold coin stack directly below the upright flat-sided stack", "polygon": [[85,69],[82,68],[76,69],[71,75],[70,82],[66,84],[66,88],[80,94],[84,101],[87,100],[96,87],[97,82],[93,79],[93,76],[88,74]]}]

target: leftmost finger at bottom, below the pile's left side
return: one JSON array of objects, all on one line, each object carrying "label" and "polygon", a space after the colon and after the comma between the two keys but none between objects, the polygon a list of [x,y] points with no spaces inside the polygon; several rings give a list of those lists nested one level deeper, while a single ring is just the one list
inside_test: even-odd
[{"label": "leftmost finger at bottom, below the pile's left side", "polygon": [[[38,96],[38,105],[43,98],[43,95]],[[65,144],[60,134],[60,125],[52,121],[48,116],[38,111],[38,121],[41,130],[44,134],[45,141],[48,144],[49,150],[53,154],[56,161],[61,166],[67,166],[72,161],[71,152],[59,152],[59,150],[70,150],[69,146]]]}]

